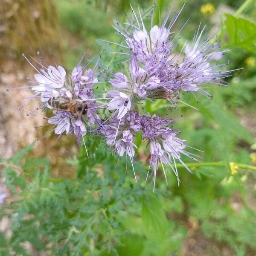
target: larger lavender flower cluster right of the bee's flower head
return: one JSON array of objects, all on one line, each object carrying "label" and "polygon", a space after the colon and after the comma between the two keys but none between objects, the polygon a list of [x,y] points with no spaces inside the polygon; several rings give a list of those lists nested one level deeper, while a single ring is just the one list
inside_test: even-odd
[{"label": "larger lavender flower cluster right of the bee's flower head", "polygon": [[192,44],[185,44],[183,51],[175,54],[177,35],[172,32],[172,27],[180,12],[170,19],[170,10],[161,25],[157,26],[153,25],[153,10],[149,30],[145,27],[139,8],[138,13],[137,16],[132,9],[133,17],[127,15],[124,26],[120,23],[114,26],[124,38],[124,44],[118,45],[128,50],[130,58],[127,61],[130,63],[128,70],[110,74],[108,81],[113,90],[107,92],[111,98],[107,108],[113,112],[99,126],[99,131],[105,135],[106,143],[116,150],[119,157],[125,154],[126,159],[130,158],[133,170],[137,148],[134,138],[138,131],[142,132],[143,140],[149,145],[148,174],[151,170],[154,184],[159,165],[166,177],[164,164],[175,173],[179,183],[176,161],[191,172],[181,160],[181,155],[193,160],[200,157],[186,151],[185,141],[177,137],[179,131],[172,129],[172,120],[141,115],[135,111],[138,109],[137,102],[143,104],[145,99],[167,99],[177,106],[178,101],[182,102],[180,91],[192,92],[193,95],[198,92],[211,97],[201,85],[209,82],[224,85],[223,79],[229,76],[230,71],[220,70],[227,63],[211,63],[221,59],[225,51],[220,49],[218,42],[211,42],[211,38],[205,37],[205,27],[200,29],[199,26]]}]

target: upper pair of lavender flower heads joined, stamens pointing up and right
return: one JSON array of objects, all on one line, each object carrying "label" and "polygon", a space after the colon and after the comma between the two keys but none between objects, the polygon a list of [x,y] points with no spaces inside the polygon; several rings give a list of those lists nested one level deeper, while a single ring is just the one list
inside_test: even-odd
[{"label": "upper pair of lavender flower heads joined, stamens pointing up and right", "polygon": [[[138,15],[132,7],[131,11],[132,17],[126,15],[127,21],[124,26],[116,23],[114,28],[125,39],[123,47],[129,49],[129,54],[133,56],[132,71],[130,66],[130,74],[133,75],[131,76],[133,80],[131,86],[139,97],[167,99],[176,107],[176,102],[180,101],[180,90],[192,92],[193,95],[194,92],[198,92],[211,97],[204,90],[206,87],[201,87],[202,85],[206,83],[227,85],[223,79],[230,76],[234,70],[221,70],[228,63],[216,64],[216,61],[219,61],[227,50],[222,50],[218,42],[213,43],[210,38],[206,38],[205,27],[200,29],[199,26],[192,44],[184,44],[180,54],[175,54],[177,47],[175,41],[183,27],[175,35],[172,32],[172,26],[180,12],[175,12],[168,22],[172,11],[170,9],[163,22],[159,26],[153,26],[153,9],[151,27],[148,29],[140,9],[138,8]],[[183,61],[181,62],[180,56],[182,55]],[[137,80],[140,81],[139,84],[136,82]],[[113,86],[117,85],[117,82],[110,82]],[[120,83],[121,81],[119,81]],[[125,83],[128,83],[127,79]]]}]

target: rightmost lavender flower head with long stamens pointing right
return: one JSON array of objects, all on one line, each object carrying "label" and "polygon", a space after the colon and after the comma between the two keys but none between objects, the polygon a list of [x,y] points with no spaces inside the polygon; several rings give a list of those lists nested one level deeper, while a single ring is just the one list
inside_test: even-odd
[{"label": "rightmost lavender flower head with long stamens pointing right", "polygon": [[230,76],[231,71],[221,71],[220,67],[224,64],[211,64],[212,61],[219,60],[226,51],[220,51],[218,44],[209,43],[209,38],[204,39],[203,33],[205,28],[197,34],[198,37],[192,43],[192,47],[187,45],[184,51],[182,63],[174,65],[175,58],[169,56],[158,66],[158,75],[161,80],[161,86],[165,88],[170,95],[176,91],[199,92],[205,96],[210,96],[203,88],[202,84],[213,83],[225,85],[223,79]]}]

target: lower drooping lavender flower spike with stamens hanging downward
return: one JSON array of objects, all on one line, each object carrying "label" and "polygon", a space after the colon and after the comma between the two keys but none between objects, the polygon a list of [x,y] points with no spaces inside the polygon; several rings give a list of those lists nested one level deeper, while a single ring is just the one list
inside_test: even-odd
[{"label": "lower drooping lavender flower spike with stamens hanging downward", "polygon": [[133,142],[133,137],[137,137],[137,132],[142,132],[143,140],[149,145],[150,151],[147,159],[149,166],[146,180],[148,180],[148,175],[151,172],[151,174],[153,174],[155,189],[159,164],[161,164],[165,177],[166,169],[164,166],[169,166],[175,173],[179,184],[180,179],[177,172],[176,161],[183,164],[183,166],[191,172],[181,160],[181,155],[183,154],[193,160],[201,158],[185,150],[185,140],[177,138],[177,134],[180,132],[173,130],[172,125],[173,120],[171,119],[164,119],[156,115],[140,115],[137,111],[128,111],[121,121],[117,118],[108,120],[108,122],[99,125],[98,131],[105,135],[107,145],[114,147],[119,157],[122,157],[124,153],[126,157],[130,157],[133,170],[134,148],[137,148]]}]

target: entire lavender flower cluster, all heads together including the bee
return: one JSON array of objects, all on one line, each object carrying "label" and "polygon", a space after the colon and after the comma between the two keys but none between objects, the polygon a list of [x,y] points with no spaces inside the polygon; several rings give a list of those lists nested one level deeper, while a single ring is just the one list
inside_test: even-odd
[{"label": "entire lavender flower cluster, all heads together including the bee", "polygon": [[[133,17],[126,15],[124,26],[116,23],[114,28],[124,39],[123,45],[117,45],[128,50],[125,54],[130,58],[125,64],[129,61],[129,68],[122,72],[118,70],[116,73],[106,70],[99,72],[105,81],[98,81],[96,78],[99,60],[91,70],[86,64],[82,64],[83,56],[72,73],[68,74],[63,67],[56,64],[55,67],[48,66],[39,52],[38,60],[32,58],[35,65],[25,57],[37,71],[35,80],[29,79],[29,82],[36,83],[30,88],[35,93],[33,97],[41,99],[42,105],[38,109],[53,109],[54,116],[48,118],[48,123],[54,125],[55,134],[75,134],[80,144],[81,137],[83,139],[87,133],[86,125],[94,125],[90,132],[102,134],[107,145],[112,147],[119,157],[125,155],[126,160],[130,160],[137,180],[134,170],[137,145],[134,138],[140,132],[149,152],[146,180],[153,175],[154,187],[159,166],[163,169],[166,182],[164,165],[169,166],[175,173],[179,183],[176,162],[191,172],[181,156],[185,155],[193,160],[200,157],[186,151],[189,146],[185,144],[185,140],[178,138],[180,132],[172,128],[172,119],[141,114],[138,111],[138,102],[143,104],[143,100],[152,102],[153,99],[167,99],[177,106],[177,102],[182,102],[179,98],[180,91],[192,92],[194,96],[194,93],[198,92],[211,97],[202,85],[224,85],[223,79],[230,76],[231,72],[221,70],[227,63],[216,64],[225,50],[221,50],[218,42],[206,38],[205,27],[201,29],[199,26],[192,44],[184,44],[182,50],[178,54],[175,53],[180,32],[175,35],[172,27],[181,11],[170,18],[171,11],[167,12],[161,25],[157,26],[153,24],[153,9],[149,29],[145,27],[140,9],[138,16],[133,9]],[[215,64],[212,64],[212,61]],[[96,99],[95,84],[107,82],[113,88],[105,91],[105,97]],[[104,113],[109,113],[104,121],[97,113],[99,108],[105,108]]]}]

